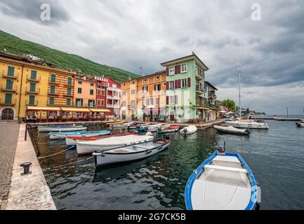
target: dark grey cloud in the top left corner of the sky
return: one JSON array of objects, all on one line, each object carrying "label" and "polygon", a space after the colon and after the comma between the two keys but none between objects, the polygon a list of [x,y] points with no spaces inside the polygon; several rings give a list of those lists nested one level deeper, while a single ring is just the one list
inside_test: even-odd
[{"label": "dark grey cloud in the top left corner of the sky", "polygon": [[[51,6],[51,20],[42,22],[41,5],[48,3]],[[27,0],[27,1],[11,1],[1,0],[0,11],[6,15],[15,18],[22,18],[32,20],[34,22],[41,22],[43,25],[55,25],[59,22],[67,22],[70,18],[65,8],[61,6],[58,0]]]}]

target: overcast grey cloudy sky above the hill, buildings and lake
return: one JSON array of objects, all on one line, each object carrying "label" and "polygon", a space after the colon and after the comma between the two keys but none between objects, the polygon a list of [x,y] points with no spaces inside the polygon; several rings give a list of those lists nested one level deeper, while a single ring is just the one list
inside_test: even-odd
[{"label": "overcast grey cloudy sky above the hill, buildings and lake", "polygon": [[[51,21],[41,21],[43,3]],[[134,73],[194,51],[219,99],[238,101],[242,71],[242,106],[303,115],[303,0],[1,0],[0,21],[20,38]]]}]

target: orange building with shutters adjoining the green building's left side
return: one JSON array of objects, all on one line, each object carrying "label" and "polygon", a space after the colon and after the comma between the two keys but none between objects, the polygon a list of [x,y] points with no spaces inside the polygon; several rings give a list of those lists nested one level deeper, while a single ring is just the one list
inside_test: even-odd
[{"label": "orange building with shutters adjoining the green building's left side", "polygon": [[156,121],[166,114],[166,71],[121,83],[121,118]]}]

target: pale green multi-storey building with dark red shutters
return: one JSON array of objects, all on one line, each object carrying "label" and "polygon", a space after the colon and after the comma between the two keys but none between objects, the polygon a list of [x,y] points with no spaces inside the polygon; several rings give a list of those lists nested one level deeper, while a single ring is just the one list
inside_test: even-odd
[{"label": "pale green multi-storey building with dark red shutters", "polygon": [[204,110],[198,103],[204,98],[208,67],[194,52],[161,63],[161,66],[166,67],[166,115],[169,120],[181,123],[197,121],[201,110]]}]

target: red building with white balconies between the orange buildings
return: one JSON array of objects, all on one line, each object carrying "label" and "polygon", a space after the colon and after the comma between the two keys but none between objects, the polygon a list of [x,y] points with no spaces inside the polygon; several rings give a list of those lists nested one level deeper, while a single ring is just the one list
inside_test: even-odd
[{"label": "red building with white balconies between the orange buildings", "polygon": [[91,79],[96,84],[96,107],[109,109],[107,116],[119,117],[121,87],[110,77],[95,76]]}]

